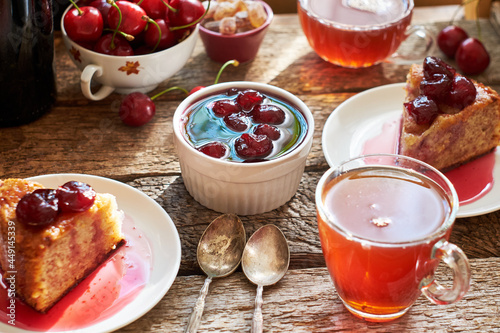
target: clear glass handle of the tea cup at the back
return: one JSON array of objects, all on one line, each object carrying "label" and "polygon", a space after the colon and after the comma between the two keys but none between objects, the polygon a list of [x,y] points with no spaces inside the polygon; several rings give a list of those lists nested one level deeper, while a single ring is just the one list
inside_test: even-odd
[{"label": "clear glass handle of the tea cup at the back", "polygon": [[408,27],[405,31],[404,40],[407,41],[408,38],[414,38],[418,41],[415,45],[412,45],[411,49],[408,49],[407,53],[403,52],[404,42],[399,46],[396,53],[394,53],[389,61],[396,64],[412,64],[415,62],[423,61],[423,59],[434,53],[436,48],[436,38],[434,33],[427,27],[423,25],[412,25]]}]

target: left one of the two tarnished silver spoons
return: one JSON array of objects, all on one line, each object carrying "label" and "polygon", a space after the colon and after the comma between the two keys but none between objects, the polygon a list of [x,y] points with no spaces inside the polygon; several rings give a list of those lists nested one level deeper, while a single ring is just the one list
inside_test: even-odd
[{"label": "left one of the two tarnished silver spoons", "polygon": [[200,290],[200,296],[185,332],[193,333],[198,330],[212,279],[228,276],[236,270],[241,262],[245,241],[245,228],[235,214],[219,216],[203,232],[198,243],[197,259],[207,278]]}]

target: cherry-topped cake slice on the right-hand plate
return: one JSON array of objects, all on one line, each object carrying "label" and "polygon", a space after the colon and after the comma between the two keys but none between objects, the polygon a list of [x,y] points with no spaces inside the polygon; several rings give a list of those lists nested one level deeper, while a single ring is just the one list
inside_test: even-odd
[{"label": "cherry-topped cake slice on the right-hand plate", "polygon": [[407,76],[398,153],[447,171],[493,151],[500,141],[496,91],[439,58]]}]

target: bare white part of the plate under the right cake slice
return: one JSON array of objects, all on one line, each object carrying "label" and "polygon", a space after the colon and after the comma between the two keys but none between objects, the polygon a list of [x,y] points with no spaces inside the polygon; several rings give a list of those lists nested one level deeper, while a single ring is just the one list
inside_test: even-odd
[{"label": "bare white part of the plate under the right cake slice", "polygon": [[[389,84],[359,93],[339,105],[328,117],[322,134],[323,153],[328,164],[333,167],[343,161],[366,153],[366,142],[399,119],[405,97],[405,83]],[[393,129],[392,129],[393,130]],[[387,147],[370,153],[391,153]],[[500,149],[495,151],[493,179],[500,179]],[[457,217],[477,216],[500,209],[500,185],[494,183],[492,189],[480,199],[460,206]]]}]

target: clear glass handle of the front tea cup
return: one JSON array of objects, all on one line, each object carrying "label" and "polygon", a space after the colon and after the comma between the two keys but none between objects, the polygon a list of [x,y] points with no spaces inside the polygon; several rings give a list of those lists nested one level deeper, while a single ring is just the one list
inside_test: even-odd
[{"label": "clear glass handle of the front tea cup", "polygon": [[430,279],[422,280],[422,293],[435,304],[451,304],[459,301],[469,290],[470,266],[465,253],[455,244],[441,239],[432,248],[431,259],[441,259],[453,271],[453,286],[446,288]]}]

